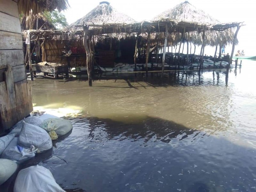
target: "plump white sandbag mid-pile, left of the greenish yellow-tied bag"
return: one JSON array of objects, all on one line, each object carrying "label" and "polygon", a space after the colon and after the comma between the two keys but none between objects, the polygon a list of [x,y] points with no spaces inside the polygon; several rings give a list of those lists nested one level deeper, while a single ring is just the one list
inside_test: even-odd
[{"label": "plump white sandbag mid-pile, left of the greenish yellow-tied bag", "polygon": [[37,153],[52,148],[52,140],[44,129],[24,121],[22,122],[18,144],[27,148],[34,145],[37,148]]}]

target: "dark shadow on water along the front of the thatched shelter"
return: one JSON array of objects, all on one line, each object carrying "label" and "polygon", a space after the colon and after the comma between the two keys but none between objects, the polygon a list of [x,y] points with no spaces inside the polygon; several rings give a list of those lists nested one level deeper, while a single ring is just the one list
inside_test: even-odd
[{"label": "dark shadow on water along the front of the thatched shelter", "polygon": [[[143,82],[143,84],[140,84],[141,87],[144,87],[145,89],[148,86],[153,86],[154,88],[157,88],[158,86],[197,86],[201,84],[210,84],[208,78],[204,77],[204,73],[207,72],[216,72],[216,74],[226,74],[226,69],[208,69],[203,70],[200,73],[198,71],[193,70],[184,70],[184,71],[168,71],[164,73],[164,79],[161,80],[160,76],[161,73],[159,72],[149,72],[149,76],[146,77],[145,73],[111,73],[106,72],[99,75],[94,75],[93,80],[95,81],[101,81],[101,80],[124,80],[127,83],[127,87],[115,87],[115,86],[103,86],[103,87],[112,87],[112,88],[134,88],[138,89],[137,87],[133,86],[132,83],[138,83]],[[86,81],[87,77],[76,77],[76,78],[70,78],[67,81]],[[214,77],[213,77],[214,78]],[[218,82],[219,83],[218,78]],[[145,84],[146,83],[146,84]],[[213,82],[214,83],[214,80]],[[222,82],[225,84],[225,82]]]}]

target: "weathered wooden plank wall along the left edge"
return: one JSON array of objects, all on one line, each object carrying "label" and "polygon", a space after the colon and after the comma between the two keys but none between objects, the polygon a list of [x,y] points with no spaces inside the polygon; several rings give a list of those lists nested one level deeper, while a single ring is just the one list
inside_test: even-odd
[{"label": "weathered wooden plank wall along the left edge", "polygon": [[0,0],[0,133],[32,110],[18,4],[16,0]]}]

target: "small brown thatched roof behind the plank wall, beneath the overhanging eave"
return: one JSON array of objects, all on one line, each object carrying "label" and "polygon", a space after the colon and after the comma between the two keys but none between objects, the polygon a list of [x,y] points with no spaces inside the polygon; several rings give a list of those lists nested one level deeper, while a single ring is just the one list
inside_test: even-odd
[{"label": "small brown thatched roof behind the plank wall, beneath the overhanging eave", "polygon": [[33,14],[30,13],[28,16],[23,15],[20,23],[21,30],[36,29],[36,22],[38,19],[38,30],[55,30],[54,25],[47,21],[46,17],[42,13]]}]

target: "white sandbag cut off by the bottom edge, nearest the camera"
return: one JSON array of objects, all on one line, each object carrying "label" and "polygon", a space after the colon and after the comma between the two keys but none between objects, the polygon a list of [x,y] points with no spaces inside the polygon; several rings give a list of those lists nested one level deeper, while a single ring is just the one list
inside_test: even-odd
[{"label": "white sandbag cut off by the bottom edge, nearest the camera", "polygon": [[50,170],[36,165],[20,170],[14,183],[14,192],[65,192],[55,181]]}]

